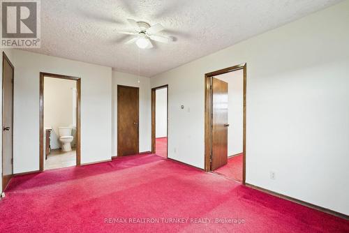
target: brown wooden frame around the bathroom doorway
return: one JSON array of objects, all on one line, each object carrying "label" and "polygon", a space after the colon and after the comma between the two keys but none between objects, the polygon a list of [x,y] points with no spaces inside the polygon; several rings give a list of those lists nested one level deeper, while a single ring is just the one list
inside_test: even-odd
[{"label": "brown wooden frame around the bathroom doorway", "polygon": [[76,81],[76,165],[81,165],[81,78],[80,77],[73,77],[73,76],[67,76],[67,75],[57,75],[52,73],[43,73],[40,72],[40,97],[39,97],[39,119],[40,119],[40,156],[39,156],[39,170],[40,172],[43,172],[44,170],[44,148],[43,148],[43,140],[44,140],[44,78],[45,77],[54,77],[59,78],[63,80],[73,80]]}]

